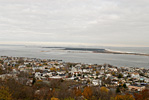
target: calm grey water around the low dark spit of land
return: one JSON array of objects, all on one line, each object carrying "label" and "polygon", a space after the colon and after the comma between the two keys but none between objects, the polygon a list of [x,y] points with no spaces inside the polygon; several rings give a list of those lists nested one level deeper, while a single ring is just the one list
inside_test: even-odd
[{"label": "calm grey water around the low dark spit of land", "polygon": [[[103,48],[103,47],[101,47]],[[113,51],[136,52],[149,54],[148,47],[104,47]],[[43,52],[44,51],[44,52]],[[91,52],[69,52],[58,48],[42,48],[40,46],[0,45],[0,56],[31,57],[41,59],[58,59],[64,62],[87,64],[111,64],[117,67],[149,68],[149,56],[102,54]]]}]

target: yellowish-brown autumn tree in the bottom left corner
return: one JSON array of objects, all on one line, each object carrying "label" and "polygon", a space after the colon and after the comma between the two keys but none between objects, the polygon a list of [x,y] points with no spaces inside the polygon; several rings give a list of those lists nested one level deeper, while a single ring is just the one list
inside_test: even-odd
[{"label": "yellowish-brown autumn tree in the bottom left corner", "polygon": [[0,87],[0,100],[12,100],[11,93],[7,87]]}]

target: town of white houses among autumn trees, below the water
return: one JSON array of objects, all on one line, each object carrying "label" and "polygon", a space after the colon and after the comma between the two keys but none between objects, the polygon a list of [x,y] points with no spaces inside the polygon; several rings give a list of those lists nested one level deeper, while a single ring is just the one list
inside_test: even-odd
[{"label": "town of white houses among autumn trees, below the water", "polygon": [[[0,86],[3,86],[6,80],[13,80],[30,89],[34,88],[32,93],[36,96],[26,100],[119,100],[115,99],[117,95],[126,94],[136,99],[135,94],[140,95],[144,90],[149,95],[149,69],[116,67],[110,64],[81,64],[62,60],[1,56]],[[44,89],[45,86],[47,87]],[[88,96],[84,93],[87,88],[91,88]],[[77,92],[70,92],[74,89]],[[108,91],[109,97],[104,96],[101,89]],[[61,96],[58,95],[59,92]],[[97,93],[99,97],[93,95]],[[148,97],[142,100],[148,100]]]}]

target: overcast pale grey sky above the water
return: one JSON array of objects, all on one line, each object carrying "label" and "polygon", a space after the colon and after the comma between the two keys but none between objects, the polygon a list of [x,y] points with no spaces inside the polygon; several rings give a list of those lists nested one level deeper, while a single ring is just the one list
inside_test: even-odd
[{"label": "overcast pale grey sky above the water", "polygon": [[0,0],[0,43],[149,46],[149,0]]}]

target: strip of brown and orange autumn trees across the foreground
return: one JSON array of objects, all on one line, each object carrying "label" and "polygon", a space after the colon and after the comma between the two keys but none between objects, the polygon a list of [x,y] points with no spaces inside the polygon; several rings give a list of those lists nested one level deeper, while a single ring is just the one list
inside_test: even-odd
[{"label": "strip of brown and orange autumn trees across the foreground", "polygon": [[73,87],[76,84],[79,83],[36,80],[33,86],[26,86],[14,79],[0,80],[0,100],[149,100],[149,89],[134,95],[116,95],[107,87]]}]

